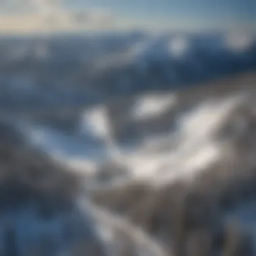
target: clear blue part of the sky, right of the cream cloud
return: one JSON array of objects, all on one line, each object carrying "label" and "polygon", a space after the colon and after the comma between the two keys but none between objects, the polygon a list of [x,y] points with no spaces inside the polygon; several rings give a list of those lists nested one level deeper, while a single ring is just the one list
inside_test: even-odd
[{"label": "clear blue part of the sky, right of the cream cloud", "polygon": [[107,8],[121,18],[156,26],[256,26],[256,0],[66,0],[69,7]]}]

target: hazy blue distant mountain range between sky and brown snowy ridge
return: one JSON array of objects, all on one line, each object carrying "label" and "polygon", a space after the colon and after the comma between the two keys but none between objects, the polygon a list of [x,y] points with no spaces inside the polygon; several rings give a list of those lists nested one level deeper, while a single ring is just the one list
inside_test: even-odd
[{"label": "hazy blue distant mountain range between sky and brown snowy ridge", "polygon": [[87,105],[187,88],[255,68],[252,34],[1,36],[0,102],[2,109],[14,111]]}]

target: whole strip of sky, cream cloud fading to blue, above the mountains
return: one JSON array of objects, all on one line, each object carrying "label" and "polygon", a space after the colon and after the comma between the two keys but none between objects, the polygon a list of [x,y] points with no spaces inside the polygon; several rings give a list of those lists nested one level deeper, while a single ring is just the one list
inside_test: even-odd
[{"label": "whole strip of sky, cream cloud fading to blue, above the mountains", "polygon": [[[0,0],[0,5],[0,29],[50,28],[53,20],[56,28],[83,24],[92,30],[256,28],[255,0]],[[84,13],[83,19],[72,13]]]}]

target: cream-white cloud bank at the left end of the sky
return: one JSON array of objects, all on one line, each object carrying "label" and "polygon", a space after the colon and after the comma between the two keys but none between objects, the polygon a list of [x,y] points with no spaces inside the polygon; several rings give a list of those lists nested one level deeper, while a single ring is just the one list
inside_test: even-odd
[{"label": "cream-white cloud bank at the left end of the sky", "polygon": [[[40,28],[106,28],[115,24],[113,13],[105,9],[67,9],[63,0],[0,0],[0,8],[9,10],[12,15],[5,15],[2,23],[14,27],[29,26]],[[7,13],[7,12],[6,12]],[[28,16],[30,20],[28,20]],[[3,18],[3,16],[0,18]],[[34,20],[30,25],[31,20]],[[15,24],[14,24],[15,23]],[[38,30],[40,29],[38,28]],[[0,28],[1,29],[1,28]]]}]

